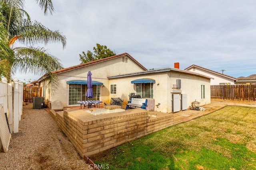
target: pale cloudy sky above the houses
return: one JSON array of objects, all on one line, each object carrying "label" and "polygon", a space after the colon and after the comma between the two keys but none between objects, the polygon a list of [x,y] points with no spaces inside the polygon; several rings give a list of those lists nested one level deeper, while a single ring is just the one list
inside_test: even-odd
[{"label": "pale cloudy sky above the houses", "polygon": [[[80,64],[79,54],[99,43],[148,69],[179,62],[180,69],[196,64],[236,78],[256,74],[255,0],[52,1],[52,16],[35,0],[25,0],[25,10],[32,21],[66,36],[65,49],[45,46],[65,68]],[[41,76],[15,75],[22,81]]]}]

